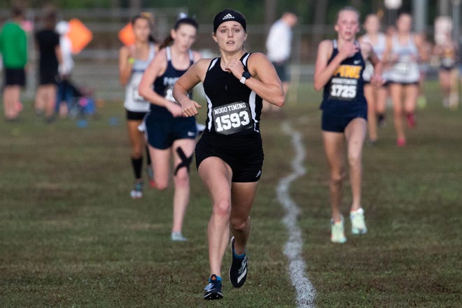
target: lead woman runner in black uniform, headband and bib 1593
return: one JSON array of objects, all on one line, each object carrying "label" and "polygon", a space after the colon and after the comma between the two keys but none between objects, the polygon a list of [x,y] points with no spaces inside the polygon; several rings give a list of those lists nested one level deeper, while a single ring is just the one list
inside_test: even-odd
[{"label": "lead woman runner in black uniform, headband and bib 1593", "polygon": [[262,99],[284,104],[281,80],[271,62],[260,52],[244,50],[246,20],[241,13],[229,9],[218,13],[212,37],[221,57],[200,60],[174,86],[174,97],[187,117],[195,116],[201,107],[187,93],[202,82],[207,96],[206,129],[195,151],[198,172],[212,200],[207,229],[211,276],[204,288],[205,300],[223,297],[221,262],[230,230],[230,280],[235,288],[246,280],[249,214],[263,162]]}]

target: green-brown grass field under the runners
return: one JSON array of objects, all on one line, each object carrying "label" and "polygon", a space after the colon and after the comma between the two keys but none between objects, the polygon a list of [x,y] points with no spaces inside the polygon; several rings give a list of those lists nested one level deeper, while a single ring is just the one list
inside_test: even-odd
[{"label": "green-brown grass field under the runners", "polygon": [[[419,110],[405,148],[395,146],[389,110],[379,144],[365,145],[369,232],[347,232],[342,245],[329,241],[320,94],[308,85],[297,104],[284,107],[282,119],[263,118],[265,166],[252,212],[248,280],[233,289],[225,279],[225,297],[216,302],[202,300],[211,209],[195,168],[183,230],[190,241],[172,243],[172,188],[146,188],[144,199],[130,199],[120,102],[106,102],[85,128],[73,120],[47,126],[26,107],[20,123],[0,121],[0,306],[295,307],[283,255],[288,233],[275,192],[294,154],[281,131],[288,121],[302,132],[307,151],[307,174],[290,195],[301,209],[298,224],[316,307],[458,307],[462,110],[443,109],[435,83],[426,92],[428,106]],[[227,252],[224,273],[229,262]]]}]

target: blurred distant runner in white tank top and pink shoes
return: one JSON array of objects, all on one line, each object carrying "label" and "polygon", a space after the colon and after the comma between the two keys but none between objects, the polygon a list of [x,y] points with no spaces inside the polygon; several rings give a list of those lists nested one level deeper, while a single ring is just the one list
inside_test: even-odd
[{"label": "blurred distant runner in white tank top and pink shoes", "polygon": [[388,74],[389,90],[393,101],[396,144],[406,145],[402,118],[409,127],[415,126],[414,112],[419,95],[419,61],[426,59],[423,38],[411,33],[412,17],[402,13],[396,21],[396,33],[388,36],[384,61],[391,65]]}]

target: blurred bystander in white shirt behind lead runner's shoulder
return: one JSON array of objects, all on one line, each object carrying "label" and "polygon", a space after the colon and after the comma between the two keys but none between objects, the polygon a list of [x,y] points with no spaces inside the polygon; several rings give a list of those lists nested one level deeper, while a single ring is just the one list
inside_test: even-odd
[{"label": "blurred bystander in white shirt behind lead runner's shoulder", "polygon": [[[274,22],[269,29],[266,40],[267,57],[276,69],[282,81],[284,95],[287,95],[290,72],[288,68],[292,43],[292,28],[297,25],[297,15],[292,12],[283,13],[281,19]],[[279,111],[279,107],[263,101],[262,111]]]}]

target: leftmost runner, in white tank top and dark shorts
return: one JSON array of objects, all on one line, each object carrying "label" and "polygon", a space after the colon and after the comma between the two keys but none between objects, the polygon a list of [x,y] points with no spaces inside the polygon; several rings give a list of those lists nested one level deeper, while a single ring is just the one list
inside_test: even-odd
[{"label": "leftmost runner, in white tank top and dark shorts", "polygon": [[[153,59],[157,45],[151,36],[153,29],[153,16],[150,13],[141,13],[132,18],[132,27],[135,42],[130,46],[123,46],[119,52],[119,79],[120,84],[125,85],[125,113],[127,118],[127,130],[130,138],[132,168],[134,172],[134,188],[130,191],[133,199],[143,197],[143,181],[141,170],[143,168],[143,153],[146,151],[144,134],[138,127],[149,111],[147,102],[138,93],[138,85],[143,73]],[[151,159],[146,151],[148,163],[148,176],[151,186],[155,186],[151,169]]]}]

